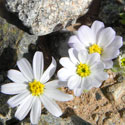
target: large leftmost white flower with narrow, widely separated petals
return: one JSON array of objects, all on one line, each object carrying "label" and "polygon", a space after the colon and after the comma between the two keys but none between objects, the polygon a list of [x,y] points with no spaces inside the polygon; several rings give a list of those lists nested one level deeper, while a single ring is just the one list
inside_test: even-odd
[{"label": "large leftmost white flower with narrow, widely separated petals", "polygon": [[18,106],[15,117],[22,120],[30,112],[30,121],[32,124],[38,124],[41,116],[41,104],[52,113],[59,117],[62,114],[61,109],[54,100],[68,101],[73,96],[64,94],[58,88],[58,80],[47,82],[56,70],[56,61],[52,58],[50,66],[43,72],[44,59],[42,52],[36,52],[33,58],[33,69],[30,63],[25,59],[17,62],[21,72],[9,70],[8,77],[13,83],[1,86],[1,92],[5,94],[17,94],[8,100],[11,107]]}]

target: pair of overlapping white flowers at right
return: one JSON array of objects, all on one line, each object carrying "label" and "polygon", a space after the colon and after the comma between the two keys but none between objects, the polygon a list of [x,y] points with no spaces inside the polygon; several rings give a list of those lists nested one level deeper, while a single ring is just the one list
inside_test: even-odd
[{"label": "pair of overlapping white flowers at right", "polygon": [[119,55],[123,40],[111,27],[95,21],[91,28],[81,26],[68,44],[69,58],[60,59],[64,68],[58,71],[58,77],[80,96],[83,90],[99,87],[108,78],[104,69],[113,67],[112,59]]}]

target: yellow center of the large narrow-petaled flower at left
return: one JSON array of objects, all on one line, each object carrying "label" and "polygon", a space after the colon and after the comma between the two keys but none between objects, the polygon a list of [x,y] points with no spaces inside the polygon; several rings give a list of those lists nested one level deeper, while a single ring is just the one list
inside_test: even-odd
[{"label": "yellow center of the large narrow-petaled flower at left", "polygon": [[29,90],[33,96],[39,96],[43,94],[45,85],[40,83],[39,81],[34,80],[33,82],[29,82]]}]

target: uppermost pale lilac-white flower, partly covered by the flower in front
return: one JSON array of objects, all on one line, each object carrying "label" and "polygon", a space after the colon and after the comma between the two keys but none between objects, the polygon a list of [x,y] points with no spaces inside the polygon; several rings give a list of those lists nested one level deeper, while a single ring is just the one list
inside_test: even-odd
[{"label": "uppermost pale lilac-white flower, partly covered by the flower in front", "polygon": [[105,69],[112,68],[112,59],[119,55],[119,48],[123,45],[121,36],[116,36],[111,27],[104,27],[100,21],[94,21],[91,28],[81,26],[76,35],[69,39],[69,46],[76,50],[85,50],[90,54],[99,53],[105,64]]}]

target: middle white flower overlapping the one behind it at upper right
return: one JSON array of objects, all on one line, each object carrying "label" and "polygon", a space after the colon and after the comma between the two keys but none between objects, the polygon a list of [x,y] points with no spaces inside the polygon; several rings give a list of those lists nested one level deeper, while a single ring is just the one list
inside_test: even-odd
[{"label": "middle white flower overlapping the one behind it at upper right", "polygon": [[88,54],[71,48],[69,58],[61,58],[60,64],[63,68],[58,71],[58,78],[67,81],[67,86],[76,96],[80,96],[83,90],[99,87],[108,78],[98,53]]}]

